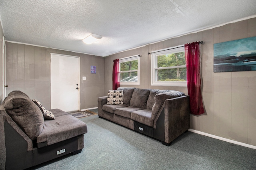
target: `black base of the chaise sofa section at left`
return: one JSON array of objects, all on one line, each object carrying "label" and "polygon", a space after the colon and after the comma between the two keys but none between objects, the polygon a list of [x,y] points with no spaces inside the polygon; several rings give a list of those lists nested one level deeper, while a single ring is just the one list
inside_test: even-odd
[{"label": "black base of the chaise sofa section at left", "polygon": [[[78,154],[82,151],[82,149],[77,150],[78,137],[73,137],[43,148],[34,147],[32,150],[27,151],[26,141],[7,121],[4,122],[4,127],[6,139],[6,170],[23,170],[66,154]],[[60,154],[57,154],[58,151]]]}]

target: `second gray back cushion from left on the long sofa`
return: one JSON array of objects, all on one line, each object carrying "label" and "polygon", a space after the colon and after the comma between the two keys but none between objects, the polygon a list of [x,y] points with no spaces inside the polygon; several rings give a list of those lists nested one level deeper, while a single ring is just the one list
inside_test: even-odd
[{"label": "second gray back cushion from left on the long sofa", "polygon": [[130,105],[134,107],[141,107],[143,109],[146,109],[149,94],[150,94],[149,89],[140,89],[140,88],[134,89]]}]

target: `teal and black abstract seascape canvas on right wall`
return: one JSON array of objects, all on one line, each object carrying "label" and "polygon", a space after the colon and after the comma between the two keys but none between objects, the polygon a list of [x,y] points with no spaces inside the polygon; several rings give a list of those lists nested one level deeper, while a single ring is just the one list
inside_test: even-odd
[{"label": "teal and black abstract seascape canvas on right wall", "polygon": [[256,70],[256,37],[214,44],[214,72]]}]

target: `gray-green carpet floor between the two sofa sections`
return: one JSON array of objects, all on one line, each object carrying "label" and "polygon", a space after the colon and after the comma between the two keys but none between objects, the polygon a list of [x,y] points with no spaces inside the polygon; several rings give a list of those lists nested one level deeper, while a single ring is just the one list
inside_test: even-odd
[{"label": "gray-green carpet floor between the two sofa sections", "polygon": [[253,170],[256,150],[187,132],[169,147],[92,115],[84,149],[34,166],[38,170]]}]

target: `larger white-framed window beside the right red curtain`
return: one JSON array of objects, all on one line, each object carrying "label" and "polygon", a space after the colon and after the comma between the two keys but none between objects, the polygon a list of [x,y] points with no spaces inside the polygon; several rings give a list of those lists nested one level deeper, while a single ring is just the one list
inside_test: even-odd
[{"label": "larger white-framed window beside the right red curtain", "polygon": [[187,86],[184,46],[152,51],[152,86]]}]

